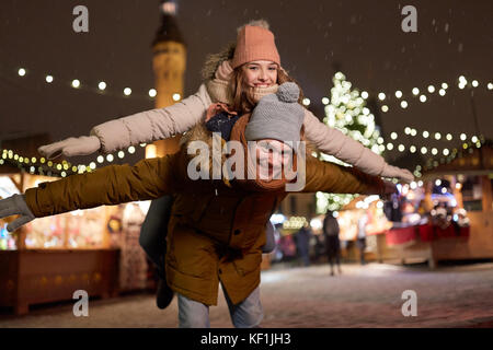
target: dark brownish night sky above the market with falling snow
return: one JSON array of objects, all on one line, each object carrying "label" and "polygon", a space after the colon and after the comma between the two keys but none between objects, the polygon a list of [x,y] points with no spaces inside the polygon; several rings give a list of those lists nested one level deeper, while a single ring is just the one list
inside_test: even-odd
[{"label": "dark brownish night sky above the market with falling snow", "polygon": [[[72,30],[78,4],[89,9],[89,33]],[[417,9],[417,33],[401,30],[406,4]],[[340,69],[370,97],[391,95],[388,113],[371,110],[379,113],[386,141],[395,131],[395,144],[442,150],[460,145],[460,132],[493,138],[493,90],[486,89],[493,83],[493,1],[180,0],[185,96],[198,89],[206,55],[234,40],[236,28],[252,19],[270,22],[282,65],[300,82],[319,118],[324,116],[321,98],[330,96]],[[153,108],[147,93],[153,88],[150,44],[159,24],[159,0],[0,1],[0,141],[43,132],[54,141],[88,135],[94,125]],[[20,67],[27,69],[23,78]],[[45,82],[47,73],[53,84]],[[457,88],[459,75],[479,82],[473,92],[479,131],[470,90]],[[92,89],[103,80],[108,92],[71,89],[72,79]],[[449,88],[439,96],[443,82]],[[433,94],[426,91],[429,84],[437,88]],[[126,86],[133,89],[130,97],[122,93]],[[426,91],[426,103],[412,95],[413,88]],[[403,92],[406,109],[395,90]],[[405,136],[405,126],[417,136]],[[422,130],[443,138],[425,140]],[[447,132],[452,141],[444,140]],[[386,158],[402,154],[394,149]],[[141,149],[134,158],[140,156]]]}]

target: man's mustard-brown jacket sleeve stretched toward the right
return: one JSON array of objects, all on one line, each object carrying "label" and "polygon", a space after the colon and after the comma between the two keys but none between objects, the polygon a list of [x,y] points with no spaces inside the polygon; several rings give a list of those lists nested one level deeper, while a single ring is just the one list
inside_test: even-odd
[{"label": "man's mustard-brown jacket sleeve stretched toward the right", "polygon": [[386,185],[379,176],[309,156],[303,192],[383,195]]}]

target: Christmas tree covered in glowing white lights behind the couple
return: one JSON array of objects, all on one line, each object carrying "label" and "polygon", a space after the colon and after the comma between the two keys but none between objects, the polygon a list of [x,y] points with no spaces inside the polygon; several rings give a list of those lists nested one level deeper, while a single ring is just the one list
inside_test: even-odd
[{"label": "Christmas tree covered in glowing white lights behind the couple", "polygon": [[[323,104],[325,104],[323,122],[362,142],[378,154],[383,152],[383,139],[375,124],[375,116],[366,107],[368,93],[365,91],[359,93],[356,89],[352,90],[352,83],[341,72],[335,73],[332,81],[334,86],[331,89],[331,97],[322,98]],[[324,153],[320,153],[319,158],[323,161],[348,165]],[[317,212],[325,213],[326,210],[340,210],[355,197],[357,195],[317,192]]]}]

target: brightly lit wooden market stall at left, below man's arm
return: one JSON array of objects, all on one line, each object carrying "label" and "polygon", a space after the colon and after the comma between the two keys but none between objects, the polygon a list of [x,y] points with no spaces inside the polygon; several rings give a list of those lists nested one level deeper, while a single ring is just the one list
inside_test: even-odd
[{"label": "brightly lit wooden market stall at left, below man's arm", "polygon": [[[53,179],[3,168],[0,196]],[[32,304],[71,300],[77,290],[115,295],[119,249],[111,247],[107,214],[101,207],[41,218],[14,233],[0,220],[0,306],[25,314]]]}]

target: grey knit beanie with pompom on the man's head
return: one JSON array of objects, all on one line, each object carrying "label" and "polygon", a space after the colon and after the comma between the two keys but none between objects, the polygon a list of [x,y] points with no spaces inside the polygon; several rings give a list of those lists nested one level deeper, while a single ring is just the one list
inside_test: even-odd
[{"label": "grey knit beanie with pompom on the man's head", "polygon": [[262,97],[252,112],[244,136],[246,141],[275,139],[299,141],[305,118],[303,107],[298,104],[299,88],[287,82],[277,93]]}]

